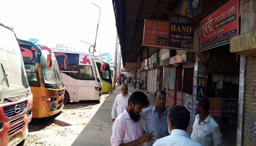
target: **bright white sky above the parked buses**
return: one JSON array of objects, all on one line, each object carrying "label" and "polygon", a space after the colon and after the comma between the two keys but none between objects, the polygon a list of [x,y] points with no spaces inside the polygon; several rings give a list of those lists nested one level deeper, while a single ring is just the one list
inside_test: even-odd
[{"label": "bright white sky above the parked buses", "polygon": [[[99,18],[99,8],[101,14]],[[114,54],[116,22],[112,0],[1,0],[0,23],[14,28],[17,38],[39,39],[41,45],[63,44],[88,52],[96,41],[96,55]]]}]

